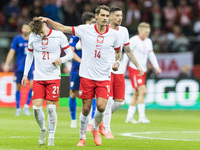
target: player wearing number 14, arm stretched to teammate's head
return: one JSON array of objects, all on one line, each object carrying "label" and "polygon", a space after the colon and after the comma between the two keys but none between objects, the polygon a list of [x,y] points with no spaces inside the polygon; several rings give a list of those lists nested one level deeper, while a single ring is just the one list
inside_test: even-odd
[{"label": "player wearing number 14, arm stretched to teammate's head", "polygon": [[[52,27],[66,33],[73,33],[81,38],[82,61],[79,75],[81,76],[79,98],[82,99],[82,112],[80,115],[80,141],[77,146],[85,146],[88,114],[92,99],[96,96],[97,110],[94,117],[92,134],[96,145],[101,145],[101,137],[98,132],[103,120],[107,99],[110,94],[110,59],[115,49],[115,63],[112,69],[117,71],[121,58],[120,39],[118,33],[111,29],[108,24],[109,7],[98,6],[95,10],[95,25],[80,25],[78,27],[63,26],[50,19],[43,18]],[[139,72],[142,72],[138,68]]]}]

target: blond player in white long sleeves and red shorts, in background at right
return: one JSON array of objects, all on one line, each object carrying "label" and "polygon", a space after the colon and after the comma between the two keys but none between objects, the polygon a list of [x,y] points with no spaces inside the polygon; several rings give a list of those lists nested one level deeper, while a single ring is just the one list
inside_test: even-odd
[{"label": "blond player in white long sleeves and red shorts, in background at right", "polygon": [[[149,58],[151,64],[155,68],[156,72],[160,74],[162,72],[161,68],[158,65],[156,56],[153,51],[153,45],[151,39],[149,39],[150,34],[150,25],[148,23],[142,22],[138,26],[138,35],[133,36],[130,39],[130,47],[135,55],[139,65],[142,67],[142,70],[145,72],[143,76],[137,76],[137,68],[132,62],[129,61],[129,78],[134,88],[133,98],[130,103],[128,114],[126,117],[126,123],[137,123],[133,119],[133,115],[136,111],[136,104],[138,103],[138,113],[139,113],[139,123],[150,123],[145,115],[145,104],[144,98],[146,94],[146,71],[147,71],[147,59]],[[128,59],[124,56],[124,66],[127,66]],[[124,67],[126,68],[126,67]],[[125,72],[125,69],[124,69]]]}]

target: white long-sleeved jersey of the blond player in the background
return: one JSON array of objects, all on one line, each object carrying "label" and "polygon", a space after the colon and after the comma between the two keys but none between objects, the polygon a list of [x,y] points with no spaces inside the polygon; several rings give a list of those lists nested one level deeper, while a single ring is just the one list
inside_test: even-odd
[{"label": "white long-sleeved jersey of the blond player in the background", "polygon": [[[141,39],[139,35],[135,35],[130,39],[130,48],[140,65],[141,69],[146,72],[147,71],[147,60],[149,58],[151,64],[154,68],[159,67],[158,61],[153,51],[153,44],[151,39],[146,38],[145,40]],[[123,58],[123,70],[125,72],[126,65],[128,63],[128,57],[124,56]],[[133,69],[137,69],[136,66],[129,61],[129,67]]]}]

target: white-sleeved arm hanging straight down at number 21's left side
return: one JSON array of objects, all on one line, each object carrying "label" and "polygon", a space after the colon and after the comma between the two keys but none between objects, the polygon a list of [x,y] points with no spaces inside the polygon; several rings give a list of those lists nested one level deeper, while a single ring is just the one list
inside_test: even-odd
[{"label": "white-sleeved arm hanging straight down at number 21's left side", "polygon": [[24,76],[23,76],[22,82],[21,82],[21,84],[24,87],[26,87],[27,76],[28,76],[28,72],[31,68],[32,62],[33,62],[33,50],[28,49],[26,61],[25,61]]}]

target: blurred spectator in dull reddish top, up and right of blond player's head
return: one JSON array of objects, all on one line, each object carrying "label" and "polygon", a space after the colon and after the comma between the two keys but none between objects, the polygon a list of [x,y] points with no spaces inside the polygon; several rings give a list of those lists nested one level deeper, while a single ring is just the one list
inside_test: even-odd
[{"label": "blurred spectator in dull reddish top, up and right of blond player's head", "polygon": [[169,32],[172,31],[172,27],[177,19],[177,12],[173,6],[173,1],[168,0],[166,6],[163,9],[164,19],[165,19],[165,29]]}]

